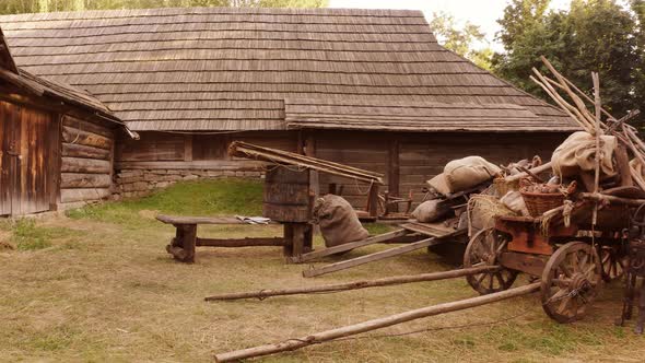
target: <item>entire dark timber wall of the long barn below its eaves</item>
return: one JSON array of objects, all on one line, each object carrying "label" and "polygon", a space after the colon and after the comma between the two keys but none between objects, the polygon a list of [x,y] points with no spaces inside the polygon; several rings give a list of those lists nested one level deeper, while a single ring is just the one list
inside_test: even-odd
[{"label": "entire dark timber wall of the long barn below its eaves", "polygon": [[[141,141],[117,140],[117,180],[126,196],[143,194],[181,179],[202,177],[259,177],[259,164],[231,159],[226,148],[233,140],[297,152],[305,140],[316,157],[383,173],[380,192],[418,202],[425,182],[441,173],[452,160],[481,155],[494,163],[508,163],[539,154],[549,160],[566,134],[562,133],[385,133],[352,131],[263,131],[231,134],[184,134],[141,132]],[[120,145],[119,145],[120,144]],[[99,167],[98,165],[94,165]],[[355,208],[366,207],[368,185],[319,175],[320,195],[330,184]]]}]

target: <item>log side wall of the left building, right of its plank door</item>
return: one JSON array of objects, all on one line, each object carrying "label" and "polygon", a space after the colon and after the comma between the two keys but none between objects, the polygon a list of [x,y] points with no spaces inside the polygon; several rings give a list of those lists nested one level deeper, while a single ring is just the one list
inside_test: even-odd
[{"label": "log side wall of the left building, right of its plank door", "polygon": [[61,127],[60,202],[81,202],[110,196],[114,173],[113,130],[63,116]]}]

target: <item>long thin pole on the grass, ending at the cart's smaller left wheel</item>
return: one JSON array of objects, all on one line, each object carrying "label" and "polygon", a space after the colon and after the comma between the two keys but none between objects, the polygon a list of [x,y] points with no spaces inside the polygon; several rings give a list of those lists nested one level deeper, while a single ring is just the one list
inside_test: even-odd
[{"label": "long thin pole on the grass, ending at the cart's smaller left wheel", "polygon": [[390,278],[383,278],[376,280],[363,280],[353,281],[347,283],[336,283],[320,286],[307,286],[307,288],[295,288],[295,289],[277,289],[277,290],[260,290],[254,292],[238,292],[230,294],[221,294],[206,297],[206,301],[224,301],[224,300],[239,300],[239,298],[259,298],[263,300],[271,296],[283,296],[283,295],[298,295],[298,294],[314,294],[321,292],[339,292],[347,290],[357,290],[366,288],[387,286],[394,284],[423,282],[423,281],[436,281],[461,278],[470,274],[478,274],[483,272],[495,272],[500,270],[499,266],[480,266],[468,269],[433,272],[433,273],[421,273],[421,274],[406,274],[396,276]]}]

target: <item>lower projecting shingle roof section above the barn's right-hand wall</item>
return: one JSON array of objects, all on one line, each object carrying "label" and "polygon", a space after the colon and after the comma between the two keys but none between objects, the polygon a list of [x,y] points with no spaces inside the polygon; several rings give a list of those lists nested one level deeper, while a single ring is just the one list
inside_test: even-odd
[{"label": "lower projecting shingle roof section above the barn's right-hand wall", "polygon": [[540,118],[514,104],[432,103],[340,98],[286,98],[290,129],[371,131],[568,131],[558,119]]}]

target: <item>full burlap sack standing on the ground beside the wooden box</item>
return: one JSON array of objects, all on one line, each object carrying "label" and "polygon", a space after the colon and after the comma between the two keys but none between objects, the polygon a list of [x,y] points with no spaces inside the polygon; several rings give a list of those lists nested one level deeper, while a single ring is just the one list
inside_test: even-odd
[{"label": "full burlap sack standing on the ground beside the wooden box", "polygon": [[370,236],[352,206],[343,198],[326,195],[314,204],[314,220],[320,226],[325,246],[333,247]]}]

